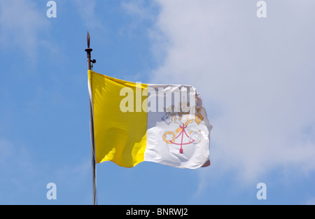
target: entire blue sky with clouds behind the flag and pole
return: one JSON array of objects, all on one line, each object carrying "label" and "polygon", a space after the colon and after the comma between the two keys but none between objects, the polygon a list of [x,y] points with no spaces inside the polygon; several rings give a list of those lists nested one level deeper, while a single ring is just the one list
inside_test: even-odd
[{"label": "entire blue sky with clouds behind the flag and pole", "polygon": [[315,204],[315,1],[264,2],[0,0],[0,204],[92,204],[87,31],[94,71],[193,85],[213,125],[210,167],[97,164],[98,204]]}]

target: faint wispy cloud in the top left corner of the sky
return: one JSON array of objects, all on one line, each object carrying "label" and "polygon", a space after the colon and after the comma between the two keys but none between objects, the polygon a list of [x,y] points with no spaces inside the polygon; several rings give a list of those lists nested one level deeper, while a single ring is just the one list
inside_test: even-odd
[{"label": "faint wispy cloud in the top left corner of the sky", "polygon": [[35,59],[38,34],[48,27],[45,5],[41,13],[29,0],[0,1],[0,45],[18,49],[30,59]]}]

